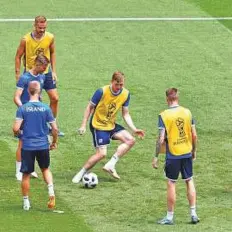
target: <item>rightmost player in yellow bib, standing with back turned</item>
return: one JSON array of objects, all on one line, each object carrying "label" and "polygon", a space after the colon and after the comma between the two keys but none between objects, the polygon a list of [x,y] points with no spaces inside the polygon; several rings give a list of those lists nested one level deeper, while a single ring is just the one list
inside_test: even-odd
[{"label": "rightmost player in yellow bib, standing with back turned", "polygon": [[167,216],[158,221],[162,225],[173,224],[176,202],[176,181],[179,173],[186,183],[187,198],[190,206],[191,222],[196,224],[196,190],[193,182],[192,161],[196,159],[197,132],[189,109],[179,106],[179,94],[176,88],[166,90],[168,109],[159,114],[159,137],[156,154],[152,160],[158,168],[158,155],[161,146],[166,143],[165,174],[167,177]]}]

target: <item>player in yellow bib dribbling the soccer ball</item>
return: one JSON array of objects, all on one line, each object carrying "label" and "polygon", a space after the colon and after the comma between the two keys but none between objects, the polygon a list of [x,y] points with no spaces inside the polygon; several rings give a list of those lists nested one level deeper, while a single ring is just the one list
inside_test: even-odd
[{"label": "player in yellow bib dribbling the soccer ball", "polygon": [[107,145],[111,139],[119,140],[121,144],[112,158],[105,164],[103,170],[114,178],[120,179],[115,165],[135,144],[135,138],[124,127],[115,123],[116,113],[120,109],[122,110],[123,119],[132,132],[139,137],[144,137],[144,131],[135,127],[129,114],[130,93],[124,88],[124,81],[125,77],[122,72],[114,72],[111,84],[98,89],[87,105],[79,133],[81,135],[85,133],[87,121],[92,114],[90,130],[96,152],[73,177],[73,183],[79,183],[83,175],[106,156]]}]

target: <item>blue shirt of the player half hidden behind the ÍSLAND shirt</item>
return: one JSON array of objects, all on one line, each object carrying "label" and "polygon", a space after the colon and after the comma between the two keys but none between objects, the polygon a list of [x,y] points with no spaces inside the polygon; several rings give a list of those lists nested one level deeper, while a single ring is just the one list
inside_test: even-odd
[{"label": "blue shirt of the player half hidden behind the \u00cdSLAND shirt", "polygon": [[31,81],[38,81],[40,83],[40,88],[42,89],[44,86],[45,81],[45,75],[44,74],[38,74],[37,76],[31,74],[30,72],[25,72],[23,75],[19,78],[16,86],[19,89],[23,89],[22,95],[21,95],[21,102],[22,104],[27,103],[30,100],[30,96],[28,93],[28,85]]}]

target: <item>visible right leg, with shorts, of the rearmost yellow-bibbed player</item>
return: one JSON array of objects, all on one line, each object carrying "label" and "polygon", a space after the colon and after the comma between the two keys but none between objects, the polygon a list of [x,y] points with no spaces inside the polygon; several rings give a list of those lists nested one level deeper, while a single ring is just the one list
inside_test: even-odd
[{"label": "visible right leg, with shorts, of the rearmost yellow-bibbed player", "polygon": [[[59,95],[56,89],[56,82],[52,79],[51,72],[45,74],[44,89],[48,94],[50,100],[50,108],[52,110],[53,116],[56,118],[58,115]],[[64,133],[59,131],[58,135],[64,136]]]}]

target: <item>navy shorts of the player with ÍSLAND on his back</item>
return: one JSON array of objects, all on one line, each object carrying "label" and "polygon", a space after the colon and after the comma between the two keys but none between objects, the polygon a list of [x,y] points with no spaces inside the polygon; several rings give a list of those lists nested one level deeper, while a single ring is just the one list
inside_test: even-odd
[{"label": "navy shorts of the player with \u00cdSLAND on his back", "polygon": [[50,165],[50,154],[49,150],[21,150],[22,165],[20,172],[32,173],[35,170],[35,158],[39,164],[39,167],[48,168]]}]

